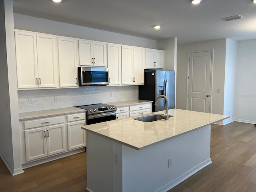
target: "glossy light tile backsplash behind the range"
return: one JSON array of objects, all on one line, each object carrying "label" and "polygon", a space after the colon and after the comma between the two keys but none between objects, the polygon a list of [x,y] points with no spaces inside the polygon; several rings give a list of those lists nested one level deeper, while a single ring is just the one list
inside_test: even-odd
[{"label": "glossy light tile backsplash behind the range", "polygon": [[134,99],[138,99],[138,86],[85,86],[66,89],[18,90],[19,112]]}]

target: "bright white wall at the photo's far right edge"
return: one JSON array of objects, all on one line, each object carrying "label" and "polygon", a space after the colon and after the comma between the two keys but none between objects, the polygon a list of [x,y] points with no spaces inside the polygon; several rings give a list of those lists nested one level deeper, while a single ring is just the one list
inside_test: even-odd
[{"label": "bright white wall at the photo's far right edge", "polygon": [[256,123],[256,39],[238,42],[235,121]]}]

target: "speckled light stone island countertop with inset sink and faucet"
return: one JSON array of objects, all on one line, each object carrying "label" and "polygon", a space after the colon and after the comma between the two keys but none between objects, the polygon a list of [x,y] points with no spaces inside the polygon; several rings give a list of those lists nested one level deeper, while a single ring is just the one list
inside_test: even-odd
[{"label": "speckled light stone island countertop with inset sink and faucet", "polygon": [[[169,118],[169,120],[141,122],[134,120],[133,118],[135,117],[130,117],[87,125],[83,126],[82,129],[110,138],[136,150],[141,150],[154,144],[158,144],[159,142],[169,140],[192,130],[229,118],[229,116],[225,115],[180,109],[170,109],[168,112],[169,115],[173,116]],[[154,112],[152,114],[157,113],[164,114],[165,111]],[[144,116],[148,115],[149,114]]]}]

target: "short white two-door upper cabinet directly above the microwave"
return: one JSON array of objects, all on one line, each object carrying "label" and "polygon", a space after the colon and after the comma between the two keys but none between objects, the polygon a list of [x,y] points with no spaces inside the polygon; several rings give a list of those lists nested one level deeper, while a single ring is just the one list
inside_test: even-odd
[{"label": "short white two-door upper cabinet directly above the microwave", "polygon": [[78,40],[80,66],[107,66],[107,44]]}]

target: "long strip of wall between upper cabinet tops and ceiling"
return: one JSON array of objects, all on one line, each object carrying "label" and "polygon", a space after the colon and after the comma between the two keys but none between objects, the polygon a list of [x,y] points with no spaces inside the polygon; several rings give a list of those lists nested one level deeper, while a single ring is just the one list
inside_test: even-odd
[{"label": "long strip of wall between upper cabinet tops and ceiling", "polygon": [[14,14],[14,28],[60,36],[82,38],[87,40],[141,46],[153,49],[158,47],[158,42],[156,40],[56,22],[21,14]]}]

